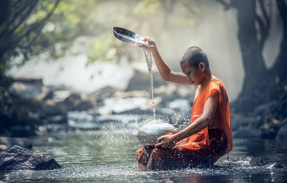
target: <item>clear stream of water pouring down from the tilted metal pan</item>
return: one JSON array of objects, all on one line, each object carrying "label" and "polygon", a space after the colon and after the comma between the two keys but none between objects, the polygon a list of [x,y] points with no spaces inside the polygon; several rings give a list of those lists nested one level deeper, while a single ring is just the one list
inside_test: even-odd
[{"label": "clear stream of water pouring down from the tilted metal pan", "polygon": [[150,85],[151,85],[151,98],[152,98],[152,107],[154,112],[154,120],[155,120],[155,107],[154,107],[154,79],[152,73],[152,61],[151,61],[151,54],[150,54],[150,46],[149,44],[142,44],[143,51],[146,57],[147,67],[150,72]]}]

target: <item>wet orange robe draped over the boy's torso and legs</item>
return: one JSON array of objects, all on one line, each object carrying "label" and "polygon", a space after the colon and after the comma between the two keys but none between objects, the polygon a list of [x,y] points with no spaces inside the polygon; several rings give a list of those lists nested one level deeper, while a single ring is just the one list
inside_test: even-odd
[{"label": "wet orange robe draped over the boy's torso and legs", "polygon": [[232,150],[229,99],[222,81],[213,78],[206,84],[192,106],[191,123],[203,114],[205,102],[214,89],[220,94],[213,119],[219,119],[219,128],[205,129],[182,139],[173,148],[163,149],[146,146],[137,151],[137,161],[150,170],[187,168],[192,165],[215,163]]}]

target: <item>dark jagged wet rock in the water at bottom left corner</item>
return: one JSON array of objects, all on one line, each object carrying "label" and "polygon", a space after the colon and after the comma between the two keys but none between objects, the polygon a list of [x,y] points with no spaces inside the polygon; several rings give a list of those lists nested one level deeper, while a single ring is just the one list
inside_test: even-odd
[{"label": "dark jagged wet rock in the water at bottom left corner", "polygon": [[0,171],[52,170],[61,168],[53,158],[13,146],[0,157]]}]

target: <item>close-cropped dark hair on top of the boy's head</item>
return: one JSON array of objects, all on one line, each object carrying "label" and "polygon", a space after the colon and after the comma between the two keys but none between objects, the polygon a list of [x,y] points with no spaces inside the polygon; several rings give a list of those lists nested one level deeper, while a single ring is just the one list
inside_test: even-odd
[{"label": "close-cropped dark hair on top of the boy's head", "polygon": [[183,64],[188,62],[189,66],[193,66],[195,68],[198,67],[200,62],[205,63],[205,65],[209,68],[209,62],[207,55],[201,48],[196,46],[188,48],[184,54],[182,54],[179,63]]}]

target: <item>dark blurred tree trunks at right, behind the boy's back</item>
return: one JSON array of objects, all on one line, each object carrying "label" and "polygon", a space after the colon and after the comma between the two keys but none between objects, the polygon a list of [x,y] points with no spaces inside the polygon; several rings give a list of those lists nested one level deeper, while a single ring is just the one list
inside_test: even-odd
[{"label": "dark blurred tree trunks at right, behind the boy's back", "polygon": [[[238,40],[243,57],[245,79],[236,102],[236,110],[253,110],[272,101],[286,103],[287,97],[287,4],[284,0],[217,0],[226,10],[237,12]],[[283,38],[272,68],[267,69],[262,56],[264,44],[270,33],[272,3],[277,7],[277,20],[282,23]],[[282,104],[281,104],[282,105]]]}]

